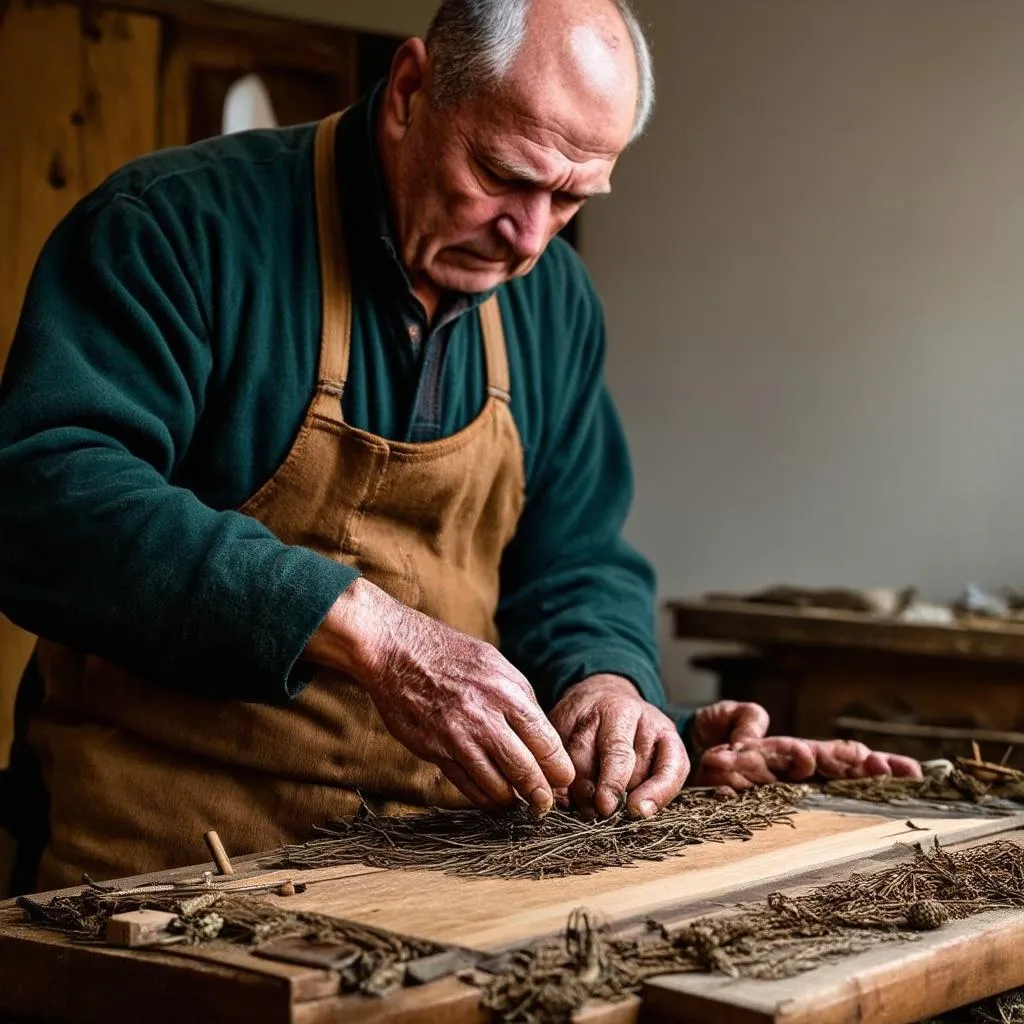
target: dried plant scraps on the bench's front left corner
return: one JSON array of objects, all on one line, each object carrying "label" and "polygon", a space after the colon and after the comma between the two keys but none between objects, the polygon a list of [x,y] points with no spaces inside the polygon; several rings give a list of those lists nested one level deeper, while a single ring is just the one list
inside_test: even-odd
[{"label": "dried plant scraps on the bench's front left corner", "polygon": [[27,897],[18,906],[39,924],[58,929],[80,942],[101,942],[106,922],[129,910],[167,910],[177,914],[169,931],[190,945],[232,943],[258,949],[279,939],[351,947],[341,969],[345,992],[384,995],[399,987],[404,965],[443,951],[422,939],[408,938],[354,922],[304,910],[287,910],[263,897],[229,891],[200,895],[138,893],[90,886],[75,895],[54,896],[46,903]]}]

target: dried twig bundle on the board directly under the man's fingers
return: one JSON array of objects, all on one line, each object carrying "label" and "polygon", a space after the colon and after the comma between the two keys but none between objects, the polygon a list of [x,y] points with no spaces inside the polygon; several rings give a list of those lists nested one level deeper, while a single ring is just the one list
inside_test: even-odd
[{"label": "dried twig bundle on the board directly under the man's fingers", "polygon": [[781,784],[740,796],[688,790],[652,818],[634,819],[621,810],[593,821],[559,810],[535,820],[525,807],[503,815],[467,810],[387,816],[364,806],[351,821],[319,829],[322,839],[286,848],[282,863],[428,868],[497,879],[589,874],[792,824],[805,794],[803,786]]}]

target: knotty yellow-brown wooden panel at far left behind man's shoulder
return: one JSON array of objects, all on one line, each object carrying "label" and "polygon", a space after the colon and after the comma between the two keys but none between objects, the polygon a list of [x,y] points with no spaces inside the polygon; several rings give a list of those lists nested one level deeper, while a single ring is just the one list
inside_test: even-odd
[{"label": "knotty yellow-brown wooden panel at far left behind man's shoulder", "polygon": [[[160,20],[69,5],[5,5],[0,19],[0,370],[25,289],[57,221],[157,145]],[[33,639],[0,616],[0,766]]]}]

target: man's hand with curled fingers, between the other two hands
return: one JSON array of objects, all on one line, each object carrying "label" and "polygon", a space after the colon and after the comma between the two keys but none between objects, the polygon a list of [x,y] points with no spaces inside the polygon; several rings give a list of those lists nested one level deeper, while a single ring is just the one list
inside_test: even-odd
[{"label": "man's hand with curled fingers, between the other two hands", "polygon": [[[585,815],[627,809],[648,818],[682,788],[690,770],[671,719],[620,676],[592,676],[568,689],[551,713],[575,768],[568,795]],[[559,794],[565,800],[565,794]]]}]

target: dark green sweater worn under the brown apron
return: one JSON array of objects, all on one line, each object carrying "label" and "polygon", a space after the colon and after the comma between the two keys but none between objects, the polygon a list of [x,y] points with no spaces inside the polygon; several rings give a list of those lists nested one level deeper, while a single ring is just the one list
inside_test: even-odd
[{"label": "dark green sweater worn under the brown apron", "polygon": [[[353,108],[338,140],[344,415],[422,440],[483,404],[479,300],[418,324],[373,112]],[[314,130],[136,161],[47,243],[0,383],[0,609],[25,628],[199,692],[276,701],[308,678],[306,641],[356,573],[233,510],[285,458],[315,377]],[[632,482],[600,303],[560,241],[500,301],[526,469],[502,649],[547,706],[596,672],[660,703],[652,575],[620,536]]]}]

